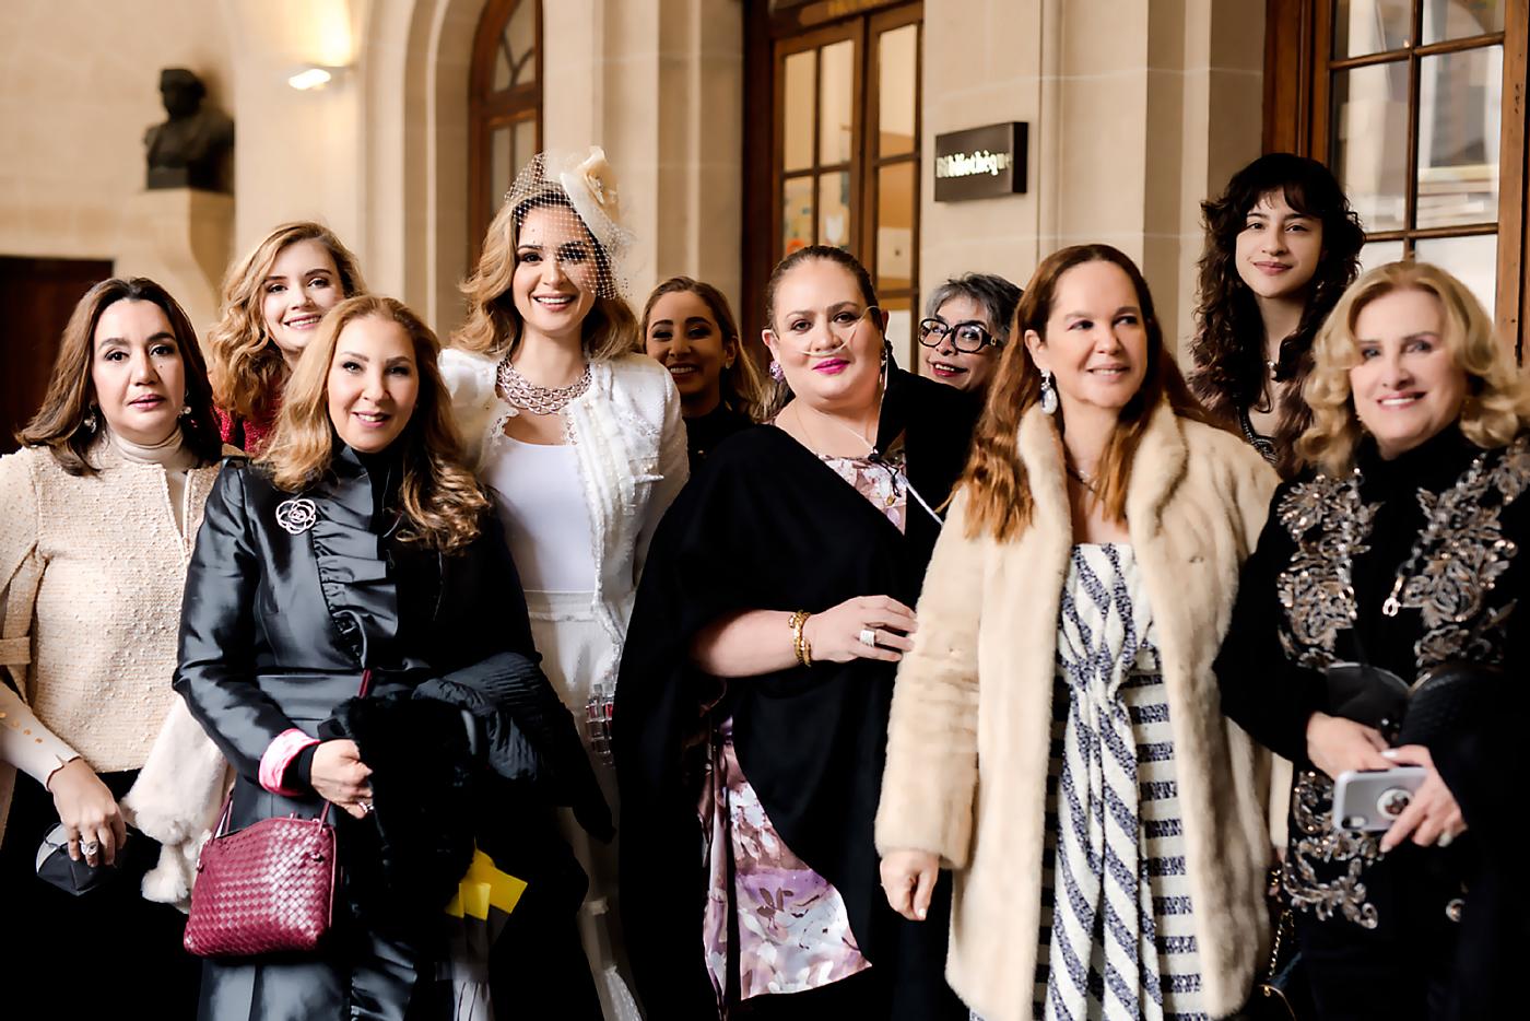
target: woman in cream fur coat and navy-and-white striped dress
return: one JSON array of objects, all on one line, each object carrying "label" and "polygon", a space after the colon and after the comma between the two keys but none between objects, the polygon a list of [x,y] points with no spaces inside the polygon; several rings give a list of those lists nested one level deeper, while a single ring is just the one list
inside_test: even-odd
[{"label": "woman in cream fur coat and navy-and-white striped dress", "polygon": [[987,1021],[1224,1016],[1271,848],[1212,660],[1276,478],[1117,250],[1048,257],[1017,328],[898,670],[883,886],[918,918],[953,869],[947,978]]}]

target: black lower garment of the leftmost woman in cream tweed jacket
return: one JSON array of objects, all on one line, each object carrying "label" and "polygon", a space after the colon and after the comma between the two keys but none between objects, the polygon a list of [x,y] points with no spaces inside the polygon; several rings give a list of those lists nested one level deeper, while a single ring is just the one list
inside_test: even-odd
[{"label": "black lower garment of the leftmost woman in cream tweed jacket", "polygon": [[[101,775],[118,799],[136,778],[136,770]],[[200,963],[181,948],[185,918],[139,891],[159,843],[130,830],[112,882],[75,897],[37,877],[37,848],[55,825],[54,796],[18,775],[0,846],[0,961],[12,980],[6,995],[24,984],[54,1015],[70,1013],[81,995],[109,995],[118,1007],[141,997],[167,1021],[196,1016]],[[0,1015],[11,1016],[5,1006]]]}]

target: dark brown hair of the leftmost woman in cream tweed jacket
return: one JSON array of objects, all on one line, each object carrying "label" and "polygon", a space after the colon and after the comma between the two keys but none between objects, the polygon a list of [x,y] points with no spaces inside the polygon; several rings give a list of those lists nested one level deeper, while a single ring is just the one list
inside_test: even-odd
[{"label": "dark brown hair of the leftmost woman in cream tweed jacket", "polygon": [[95,358],[96,325],[118,302],[148,302],[170,321],[187,381],[185,406],[191,409],[181,416],[182,442],[199,464],[213,464],[222,455],[223,442],[213,415],[213,384],[207,378],[207,361],[202,360],[196,329],[181,303],[148,277],[112,277],[86,291],[60,338],[43,406],[15,435],[17,441],[23,447],[47,447],[69,475],[96,473],[96,465],[90,464],[87,455],[104,422],[90,415],[95,404],[90,363]]}]

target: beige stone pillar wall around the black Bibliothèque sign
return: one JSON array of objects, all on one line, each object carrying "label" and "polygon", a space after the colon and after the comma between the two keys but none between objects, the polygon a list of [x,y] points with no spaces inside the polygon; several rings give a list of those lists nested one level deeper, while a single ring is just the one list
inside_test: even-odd
[{"label": "beige stone pillar wall around the black Biblioth\u00e8que sign", "polygon": [[1030,190],[933,201],[921,289],[965,271],[1024,285],[1048,253],[1137,260],[1170,344],[1192,331],[1200,202],[1259,155],[1264,0],[927,0],[924,145],[1030,122]]}]

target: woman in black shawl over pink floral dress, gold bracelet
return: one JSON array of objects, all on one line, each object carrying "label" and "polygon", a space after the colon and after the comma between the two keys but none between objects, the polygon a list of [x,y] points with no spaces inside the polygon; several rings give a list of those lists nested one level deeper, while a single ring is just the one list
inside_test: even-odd
[{"label": "woman in black shawl over pink floral dress, gold bracelet", "polygon": [[887,908],[872,813],[970,403],[892,364],[838,248],[782,260],[767,320],[785,404],[659,525],[617,686],[638,989],[653,1018],[965,1018],[941,975],[947,892],[930,925]]}]

